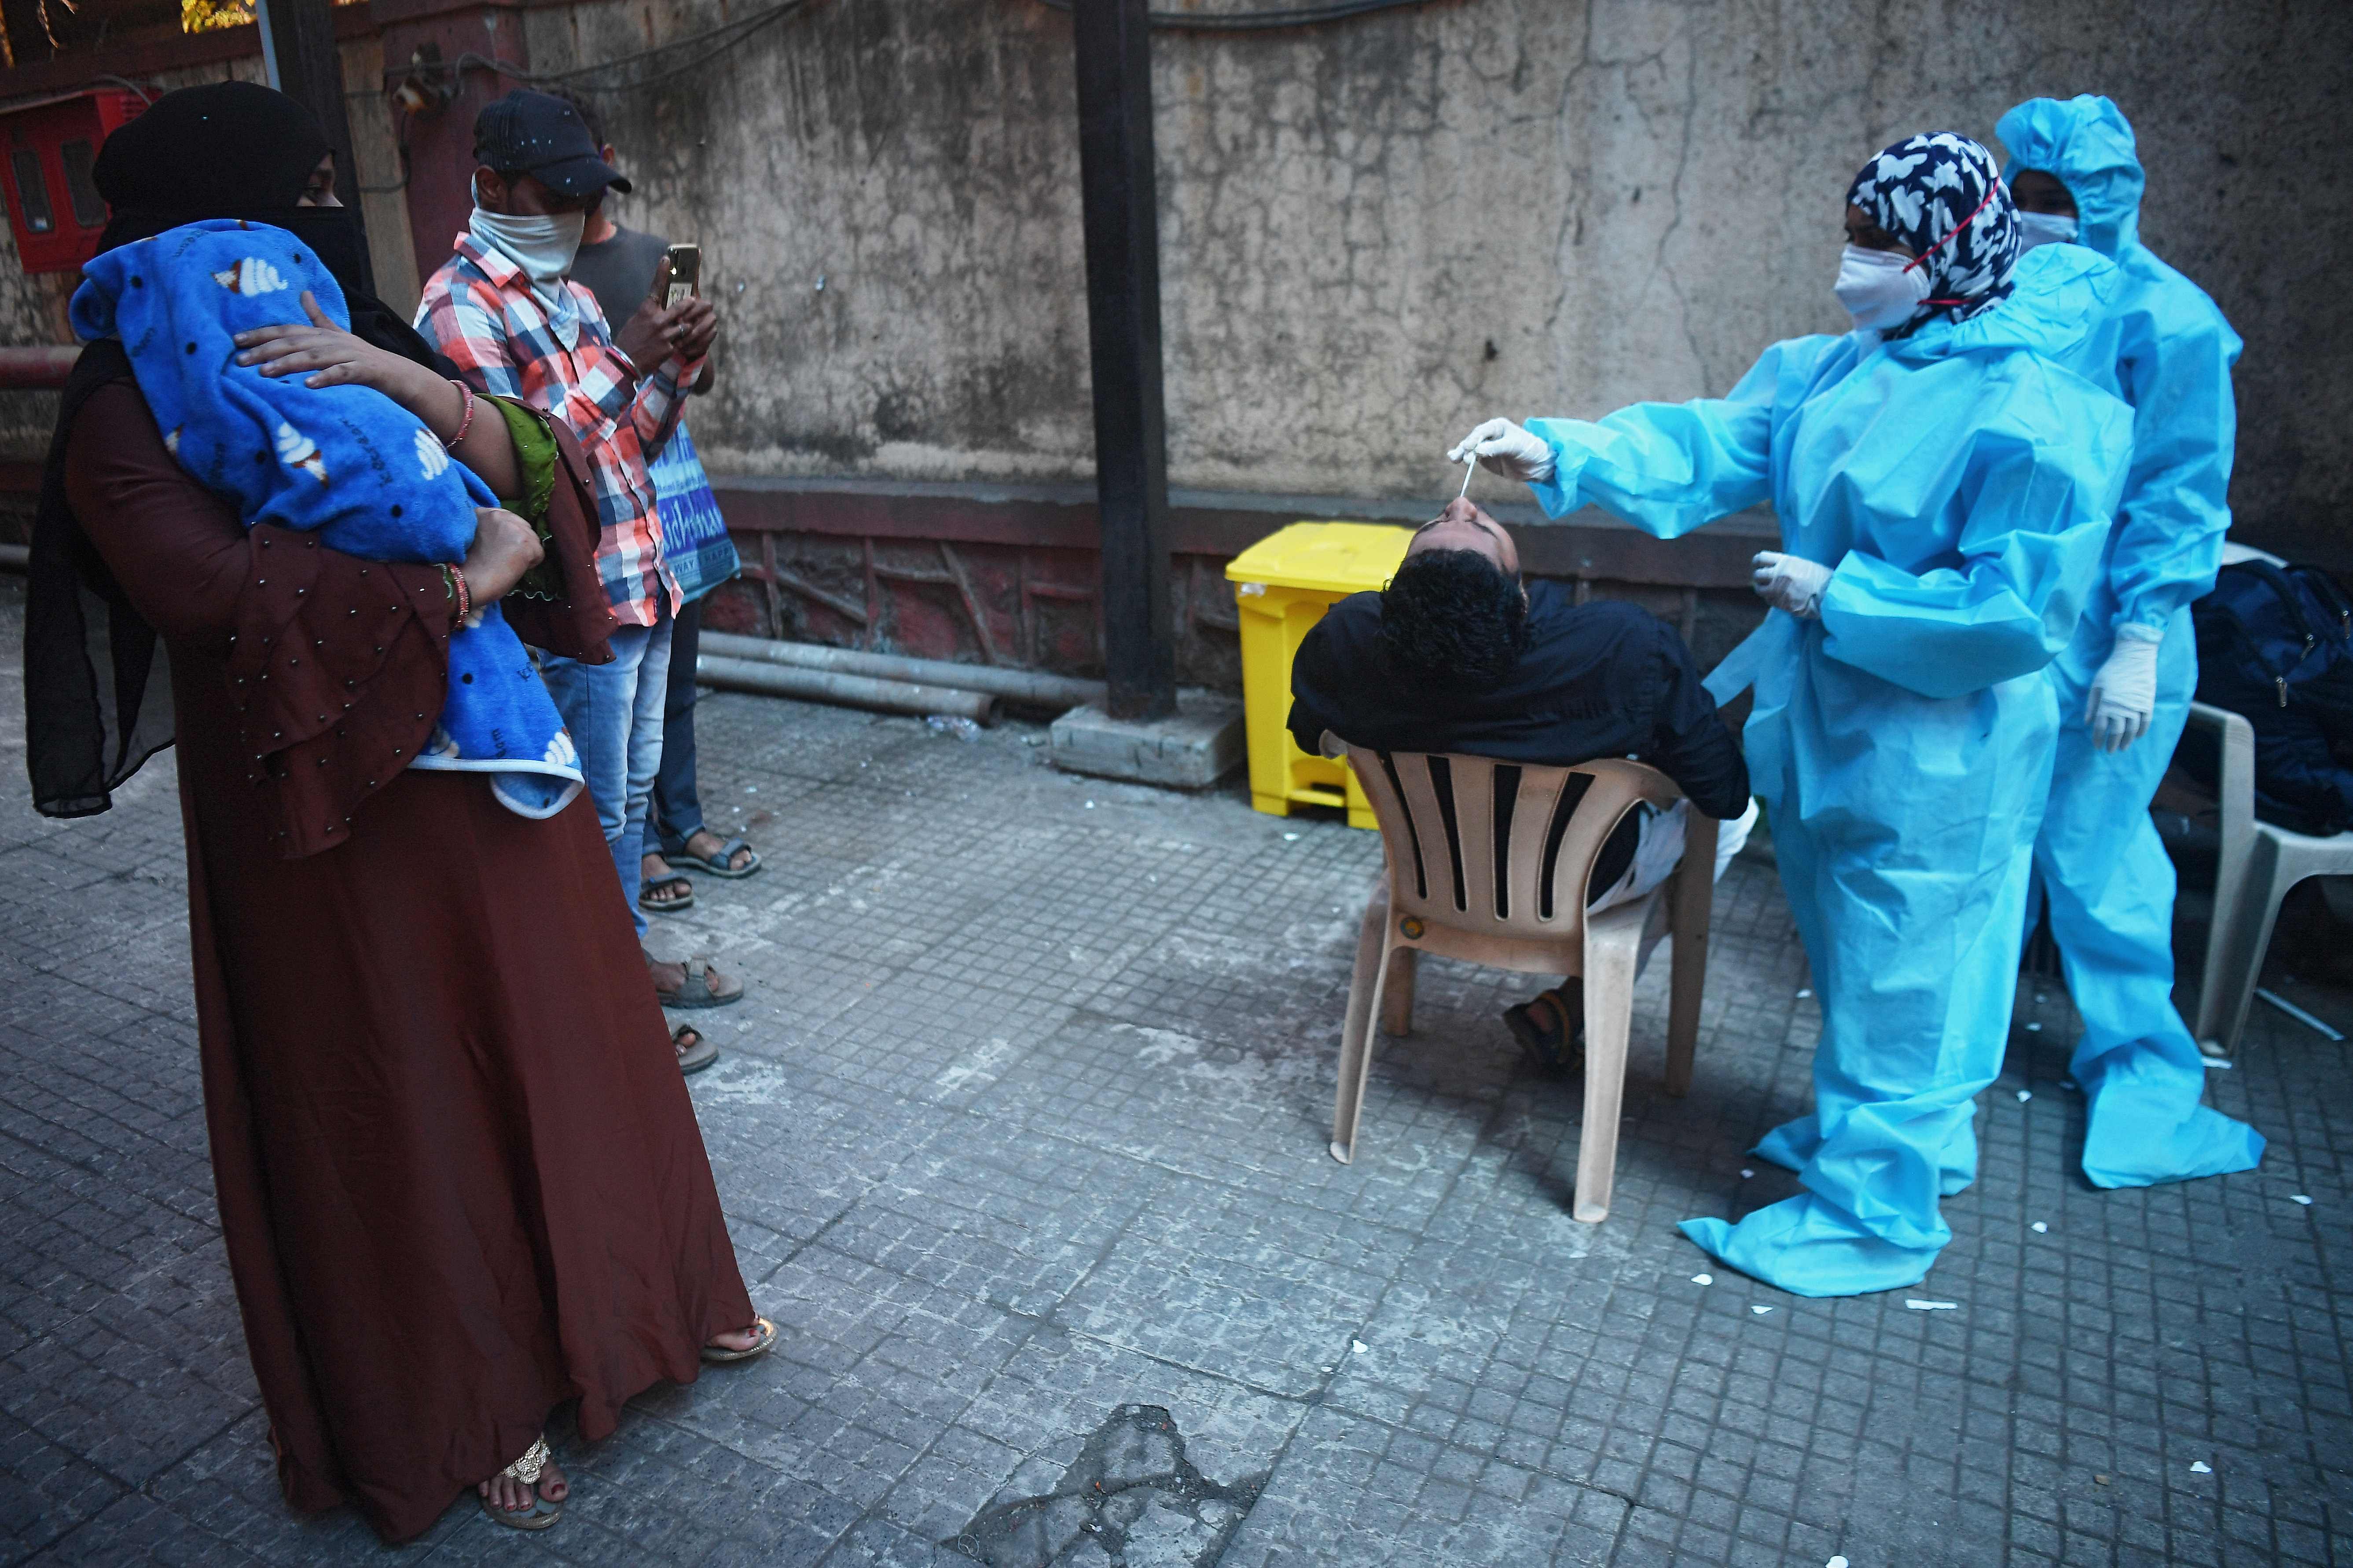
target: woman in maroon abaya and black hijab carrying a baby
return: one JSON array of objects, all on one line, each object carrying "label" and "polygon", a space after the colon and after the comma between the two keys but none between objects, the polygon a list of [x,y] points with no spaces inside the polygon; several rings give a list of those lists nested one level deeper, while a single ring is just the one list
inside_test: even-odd
[{"label": "woman in maroon abaya and black hijab carrying a baby", "polygon": [[[529,494],[553,433],[529,451],[489,404],[466,425],[431,348],[358,289],[325,153],[264,87],[167,94],[99,158],[104,244],[216,216],[294,230],[351,296],[339,378]],[[591,527],[560,463],[544,505],[544,527]],[[459,571],[487,602],[539,555],[532,524],[485,512]],[[205,1117],[278,1476],[296,1509],[355,1502],[388,1540],[466,1488],[501,1523],[553,1523],[551,1408],[576,1399],[593,1441],[640,1389],[776,1333],[593,809],[527,820],[478,778],[407,769],[454,592],[440,567],[247,529],[174,463],[122,346],[85,350],[35,524],[35,804],[104,811],[176,710]]]}]

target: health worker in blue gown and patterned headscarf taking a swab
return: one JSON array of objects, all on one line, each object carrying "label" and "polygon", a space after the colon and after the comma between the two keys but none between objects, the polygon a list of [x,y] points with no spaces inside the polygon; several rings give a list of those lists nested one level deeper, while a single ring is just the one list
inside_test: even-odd
[{"label": "health worker in blue gown and patterned headscarf taking a swab", "polygon": [[[1758,1154],[1805,1192],[1682,1232],[1798,1295],[1918,1284],[1977,1173],[2075,632],[2132,456],[2132,409],[2052,357],[2115,266],[2019,263],[1993,155],[1951,132],[1847,190],[1847,336],[1774,343],[1725,397],[1489,421],[1457,454],[1659,538],[1772,505],[1765,625],[1708,682],[1755,682],[1748,776],[1821,994],[1814,1110]],[[1457,456],[1457,461],[1461,461]]]}]

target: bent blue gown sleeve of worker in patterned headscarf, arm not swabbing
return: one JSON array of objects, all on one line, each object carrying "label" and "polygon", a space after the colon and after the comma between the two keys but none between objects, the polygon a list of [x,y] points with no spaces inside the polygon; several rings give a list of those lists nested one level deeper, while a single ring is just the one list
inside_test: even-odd
[{"label": "bent blue gown sleeve of worker in patterned headscarf, arm not swabbing", "polygon": [[2132,409],[2031,364],[2024,395],[1960,454],[1960,564],[1906,571],[1849,550],[1821,595],[1824,654],[1953,698],[2040,670],[2075,635],[2132,458]]}]

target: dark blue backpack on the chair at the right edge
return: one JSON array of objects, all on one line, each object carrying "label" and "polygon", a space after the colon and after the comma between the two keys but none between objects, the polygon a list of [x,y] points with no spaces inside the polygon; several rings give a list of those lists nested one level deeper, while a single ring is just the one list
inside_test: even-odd
[{"label": "dark blue backpack on the chair at the right edge", "polygon": [[2235,562],[2191,621],[2198,701],[2254,724],[2254,813],[2289,832],[2353,827],[2353,599],[2337,578]]}]

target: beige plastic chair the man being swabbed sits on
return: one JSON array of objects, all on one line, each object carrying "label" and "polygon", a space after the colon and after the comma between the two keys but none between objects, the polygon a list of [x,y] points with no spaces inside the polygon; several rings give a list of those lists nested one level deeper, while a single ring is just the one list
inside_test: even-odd
[{"label": "beige plastic chair the man being swabbed sits on", "polygon": [[1586,919],[1586,879],[1609,830],[1635,802],[1666,809],[1680,799],[1666,773],[1617,759],[1544,769],[1355,745],[1348,748],[1348,764],[1372,799],[1388,863],[1358,933],[1332,1100],[1332,1159],[1348,1164],[1355,1157],[1372,1070],[1372,1018],[1379,1013],[1388,1034],[1412,1030],[1417,954],[1584,976],[1586,1110],[1572,1213],[1598,1225],[1609,1215],[1617,1182],[1633,983],[1668,931],[1675,936],[1675,973],[1666,1091],[1680,1095],[1692,1086],[1715,900],[1715,818],[1687,813],[1675,875],[1647,896]]}]

